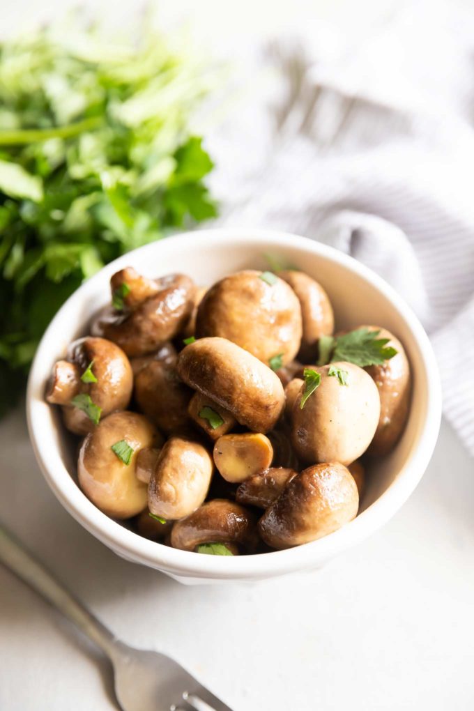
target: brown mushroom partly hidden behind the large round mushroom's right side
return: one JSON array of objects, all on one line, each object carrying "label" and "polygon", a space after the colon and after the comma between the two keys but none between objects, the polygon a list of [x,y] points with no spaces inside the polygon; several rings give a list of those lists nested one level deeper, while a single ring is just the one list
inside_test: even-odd
[{"label": "brown mushroom partly hidden behind the large round mushroom's right side", "polygon": [[278,273],[287,282],[301,305],[303,336],[300,357],[302,360],[316,358],[321,336],[330,336],[334,330],[333,307],[321,284],[304,272],[289,269]]}]

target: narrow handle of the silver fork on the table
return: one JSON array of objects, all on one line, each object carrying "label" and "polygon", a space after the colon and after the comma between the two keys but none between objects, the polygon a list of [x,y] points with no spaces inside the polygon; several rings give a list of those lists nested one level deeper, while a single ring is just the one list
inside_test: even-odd
[{"label": "narrow handle of the silver fork on the table", "polygon": [[112,658],[117,638],[63,587],[8,531],[0,525],[0,562],[68,617]]}]

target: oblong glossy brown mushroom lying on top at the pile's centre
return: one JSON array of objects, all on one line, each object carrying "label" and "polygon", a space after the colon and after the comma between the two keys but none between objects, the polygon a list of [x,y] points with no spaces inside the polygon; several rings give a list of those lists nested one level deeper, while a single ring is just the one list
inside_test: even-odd
[{"label": "oblong glossy brown mushroom lying on top at the pile's centre", "polygon": [[254,432],[272,429],[284,408],[284,390],[275,373],[226,338],[190,343],[179,354],[177,368],[185,383]]}]

